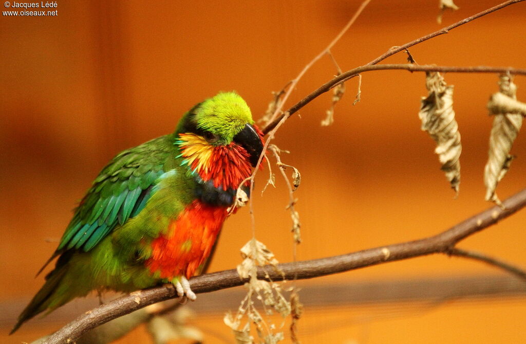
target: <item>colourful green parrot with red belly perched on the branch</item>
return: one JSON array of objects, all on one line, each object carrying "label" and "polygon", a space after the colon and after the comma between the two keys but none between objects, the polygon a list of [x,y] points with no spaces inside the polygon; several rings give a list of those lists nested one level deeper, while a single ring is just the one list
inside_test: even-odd
[{"label": "colourful green parrot with red belly perched on the branch", "polygon": [[203,271],[238,187],[249,195],[263,136],[245,100],[220,92],[186,112],[175,132],[117,154],[74,210],[38,273],[58,257],[55,268],[11,333],[91,291],[171,283],[195,300],[188,279]]}]

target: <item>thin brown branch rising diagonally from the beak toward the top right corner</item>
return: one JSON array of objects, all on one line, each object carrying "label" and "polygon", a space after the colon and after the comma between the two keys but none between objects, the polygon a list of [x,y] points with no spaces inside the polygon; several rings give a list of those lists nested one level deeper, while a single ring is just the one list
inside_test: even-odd
[{"label": "thin brown branch rising diagonally from the beak toward the top right corner", "polygon": [[[400,46],[396,46],[396,47],[392,47],[389,49],[389,51],[387,51],[385,54],[383,55],[380,55],[378,56],[377,58],[375,58],[375,60],[372,60],[371,62],[367,63],[365,66],[371,66],[371,65],[376,65],[378,64],[379,62],[385,60],[387,57],[391,56],[391,55],[394,55],[396,53],[399,53],[401,51],[405,51],[407,48],[413,46],[413,45],[416,45],[416,44],[419,44],[419,43],[422,43],[424,41],[427,41],[427,40],[430,40],[431,38],[433,37],[436,37],[436,36],[439,36],[439,35],[443,35],[443,34],[446,34],[448,33],[450,30],[453,30],[453,28],[456,28],[456,27],[459,27],[460,25],[463,25],[463,24],[466,24],[466,23],[469,23],[471,21],[473,21],[474,19],[477,19],[477,18],[480,18],[482,16],[485,16],[487,14],[490,14],[492,12],[495,12],[495,11],[498,11],[499,9],[501,8],[504,8],[504,7],[507,7],[509,5],[513,5],[513,4],[516,4],[516,3],[520,3],[524,0],[510,0],[510,1],[507,1],[507,2],[504,2],[500,5],[497,5],[497,6],[494,6],[494,7],[491,7],[491,8],[488,8],[486,9],[485,11],[482,11],[480,13],[477,13],[477,14],[474,14],[472,15],[471,17],[467,17],[467,18],[464,18],[462,19],[461,21],[459,22],[456,22],[454,24],[451,24],[449,26],[446,26],[446,27],[443,27],[441,28],[440,30],[438,31],[435,31],[433,33],[430,33],[428,35],[425,35],[425,36],[422,36],[420,38],[417,38],[416,40],[413,40],[409,43],[406,43],[404,45],[400,45]],[[362,67],[365,67],[365,66],[362,66]],[[360,68],[362,68],[360,67]],[[359,72],[356,72],[358,68],[355,68],[355,70],[351,70],[351,71],[355,71],[354,74],[347,74],[347,73],[343,73],[343,74],[347,74],[347,78],[343,81],[347,81],[355,76],[357,76],[359,74]],[[400,69],[403,69],[403,68],[400,68]],[[349,71],[349,72],[351,72]],[[416,70],[415,70],[416,71]],[[477,72],[479,73],[479,72]],[[341,76],[341,75],[340,75]],[[341,81],[341,80],[340,80]],[[335,86],[336,84],[332,85],[332,86]],[[325,85],[323,85],[325,86]],[[322,86],[322,87],[323,87]],[[321,88],[321,87],[320,87]],[[332,88],[332,87],[331,87]],[[262,130],[265,134],[267,134],[269,131],[271,131],[272,129],[274,129],[274,127],[276,127],[278,125],[278,123],[282,120],[282,119],[287,119],[288,117],[290,117],[292,114],[294,114],[295,112],[297,112],[299,109],[301,109],[301,107],[305,106],[307,103],[309,103],[310,101],[312,101],[314,98],[316,98],[317,96],[319,96],[320,94],[322,93],[325,93],[327,91],[329,91],[330,88],[328,90],[325,90],[323,92],[320,92],[320,93],[316,93],[318,90],[312,92],[311,94],[309,94],[307,97],[305,97],[304,99],[302,99],[300,102],[298,102],[296,105],[292,106],[288,111],[286,111],[284,114],[278,116],[278,117],[275,117],[273,116],[272,118],[274,120],[272,120],[270,123],[268,123],[265,128]],[[289,89],[290,91],[290,89]],[[313,95],[315,94],[316,95]],[[311,98],[309,98],[311,95],[313,95]],[[285,102],[282,102],[281,105],[285,103]],[[277,114],[277,111],[276,113]]]}]

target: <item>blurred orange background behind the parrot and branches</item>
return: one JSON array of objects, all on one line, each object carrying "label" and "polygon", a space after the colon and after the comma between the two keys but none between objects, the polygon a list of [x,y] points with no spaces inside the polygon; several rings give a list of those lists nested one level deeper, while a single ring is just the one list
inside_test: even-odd
[{"label": "blurred orange background behind the parrot and branches", "polygon": [[[373,0],[332,53],[342,70],[349,70],[497,3],[458,0],[459,11],[447,12],[439,25],[437,0]],[[34,279],[34,274],[54,251],[75,203],[116,153],[173,131],[191,106],[221,90],[238,91],[259,118],[271,91],[279,91],[327,46],[359,4],[57,1],[56,17],[2,16],[0,304],[23,307],[42,286],[43,276]],[[524,68],[525,15],[526,3],[513,5],[410,52],[419,64]],[[405,54],[386,60],[406,61]],[[330,59],[324,58],[301,80],[288,104],[335,73]],[[456,200],[440,171],[434,142],[420,131],[420,97],[427,93],[424,74],[364,73],[361,102],[352,105],[354,79],[346,84],[335,124],[329,127],[321,127],[320,121],[330,94],[291,117],[274,143],[291,152],[282,160],[302,175],[296,192],[304,240],[298,259],[427,237],[488,208],[482,174],[492,119],[485,104],[498,90],[497,80],[493,74],[446,75],[455,86],[454,110],[462,135],[462,182]],[[518,99],[526,100],[526,78],[519,76],[515,83]],[[524,134],[512,153],[518,159],[499,185],[502,199],[524,186]],[[261,196],[267,173],[267,168],[259,173],[254,194],[256,237],[280,262],[287,262],[292,260],[288,193],[277,174],[277,188]],[[519,212],[459,247],[526,267],[525,220],[526,214]],[[251,238],[250,228],[246,209],[226,222],[210,271],[231,269],[241,261],[238,252]],[[503,272],[433,255],[311,280],[302,288],[309,283],[491,274]],[[307,307],[298,324],[301,341],[526,342],[524,298],[449,304],[423,314],[369,321],[353,320],[361,308],[344,306]],[[7,337],[20,310],[13,311],[12,322],[2,323],[0,341],[30,342],[65,323],[29,322]],[[232,338],[221,312],[193,323]],[[207,342],[218,340],[214,338]],[[138,339],[148,342],[144,328],[119,342]]]}]

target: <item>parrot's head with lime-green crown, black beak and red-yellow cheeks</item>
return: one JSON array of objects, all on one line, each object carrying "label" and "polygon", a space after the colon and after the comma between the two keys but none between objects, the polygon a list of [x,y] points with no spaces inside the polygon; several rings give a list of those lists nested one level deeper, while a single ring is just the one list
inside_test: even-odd
[{"label": "parrot's head with lime-green crown, black beak and red-yellow cheeks", "polygon": [[217,188],[237,189],[255,167],[263,134],[236,92],[221,92],[188,111],[176,130],[183,164]]}]

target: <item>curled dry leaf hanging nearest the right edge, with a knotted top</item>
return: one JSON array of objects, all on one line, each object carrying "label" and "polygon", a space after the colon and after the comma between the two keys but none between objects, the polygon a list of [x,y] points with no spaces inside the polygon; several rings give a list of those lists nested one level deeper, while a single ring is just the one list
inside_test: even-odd
[{"label": "curled dry leaf hanging nearest the right edge, with a knotted top", "polygon": [[488,162],[484,168],[484,184],[486,186],[485,199],[501,205],[495,189],[508,172],[511,160],[513,160],[509,152],[521,129],[523,118],[521,109],[524,110],[526,104],[516,100],[517,86],[510,75],[500,76],[499,89],[499,92],[493,94],[488,102],[490,114],[495,116],[491,127]]}]

